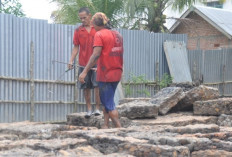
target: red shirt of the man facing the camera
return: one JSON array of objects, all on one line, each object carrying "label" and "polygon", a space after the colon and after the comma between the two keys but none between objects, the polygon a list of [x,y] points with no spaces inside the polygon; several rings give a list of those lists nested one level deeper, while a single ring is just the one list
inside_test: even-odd
[{"label": "red shirt of the man facing the camera", "polygon": [[79,65],[86,66],[90,56],[93,54],[93,38],[96,31],[91,27],[91,31],[87,32],[85,27],[80,26],[74,32],[73,44],[80,47]]}]

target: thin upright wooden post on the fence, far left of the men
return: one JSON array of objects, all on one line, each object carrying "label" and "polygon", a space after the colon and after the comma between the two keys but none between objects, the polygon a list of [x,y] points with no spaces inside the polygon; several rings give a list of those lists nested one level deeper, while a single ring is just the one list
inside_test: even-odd
[{"label": "thin upright wooden post on the fence, far left of the men", "polygon": [[35,102],[34,102],[34,92],[35,92],[35,85],[34,85],[34,44],[31,42],[30,45],[30,121],[34,121],[35,118]]}]

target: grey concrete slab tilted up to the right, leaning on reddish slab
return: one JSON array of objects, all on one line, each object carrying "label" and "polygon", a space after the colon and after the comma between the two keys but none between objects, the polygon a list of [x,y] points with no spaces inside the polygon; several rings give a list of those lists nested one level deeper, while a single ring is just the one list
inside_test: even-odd
[{"label": "grey concrete slab tilted up to the right, leaning on reddish slab", "polygon": [[159,108],[159,113],[165,115],[184,97],[180,87],[167,87],[159,91],[150,102]]}]

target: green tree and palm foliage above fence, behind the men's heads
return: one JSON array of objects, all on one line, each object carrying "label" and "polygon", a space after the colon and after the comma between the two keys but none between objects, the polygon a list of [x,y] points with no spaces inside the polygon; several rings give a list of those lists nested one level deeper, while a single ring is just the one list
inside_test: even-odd
[{"label": "green tree and palm foliage above fence, behind the men's heads", "polygon": [[114,27],[166,32],[164,11],[168,7],[181,11],[197,1],[205,0],[52,0],[59,6],[52,17],[55,23],[76,24],[79,8],[87,6],[92,14],[104,12]]}]

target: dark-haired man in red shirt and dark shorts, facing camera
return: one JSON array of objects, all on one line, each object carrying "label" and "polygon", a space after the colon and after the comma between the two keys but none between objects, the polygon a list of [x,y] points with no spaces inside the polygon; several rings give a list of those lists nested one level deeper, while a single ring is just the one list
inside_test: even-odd
[{"label": "dark-haired man in red shirt and dark shorts, facing camera", "polygon": [[[79,10],[79,18],[82,25],[78,27],[73,36],[74,47],[72,49],[72,55],[69,61],[69,69],[73,67],[73,61],[79,52],[79,65],[85,67],[89,61],[90,56],[93,53],[93,39],[96,33],[93,26],[91,26],[91,13],[88,8],[84,7]],[[79,67],[78,75],[83,71],[84,68]],[[87,105],[86,118],[92,115],[91,106],[91,89],[95,88],[95,98],[96,98],[96,110],[95,115],[100,115],[100,98],[99,98],[99,88],[96,82],[96,71],[91,70],[88,72],[85,83],[77,83],[80,89],[84,89],[85,101]]]}]

